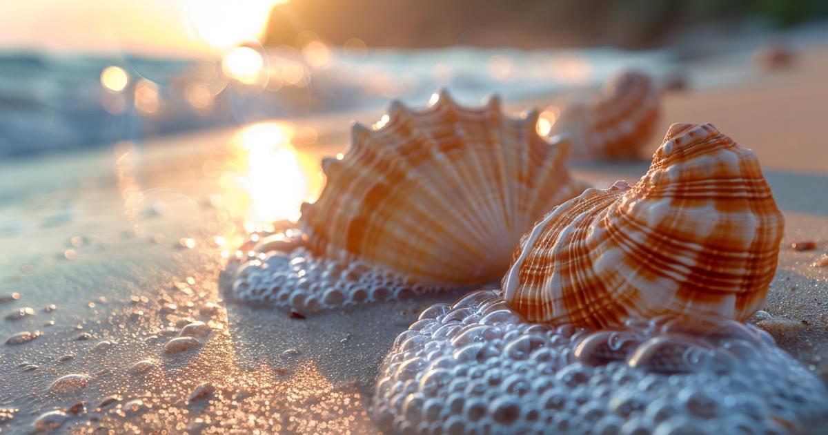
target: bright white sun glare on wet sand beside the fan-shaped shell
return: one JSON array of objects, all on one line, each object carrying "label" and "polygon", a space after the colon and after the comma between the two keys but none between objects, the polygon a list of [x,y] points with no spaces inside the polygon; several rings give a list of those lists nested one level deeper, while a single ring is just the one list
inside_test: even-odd
[{"label": "bright white sun glare on wet sand beside the fan-shaped shell", "polygon": [[290,123],[257,123],[244,128],[235,141],[246,167],[247,225],[297,220],[303,201],[315,201],[322,177],[317,159],[296,150],[296,128]]}]

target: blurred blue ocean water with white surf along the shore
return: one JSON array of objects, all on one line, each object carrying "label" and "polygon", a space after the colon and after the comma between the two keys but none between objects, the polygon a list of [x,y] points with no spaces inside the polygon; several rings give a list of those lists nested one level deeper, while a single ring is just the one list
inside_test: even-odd
[{"label": "blurred blue ocean water with white surf along the shore", "polygon": [[[364,57],[331,51],[319,65],[284,48],[260,54],[266,74],[250,85],[231,79],[219,59],[0,54],[0,157],[375,108],[389,99],[423,105],[438,88],[469,103],[492,93],[526,98],[595,87],[626,68],[662,74],[670,58],[665,51],[455,47],[370,51]],[[108,66],[126,71],[126,88],[103,87],[101,74]]]}]

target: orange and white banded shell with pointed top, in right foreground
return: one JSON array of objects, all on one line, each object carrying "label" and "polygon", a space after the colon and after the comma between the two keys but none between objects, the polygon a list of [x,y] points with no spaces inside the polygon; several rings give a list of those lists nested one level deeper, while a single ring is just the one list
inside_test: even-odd
[{"label": "orange and white banded shell with pointed top, in right foreground", "polygon": [[588,189],[538,221],[503,290],[529,321],[744,321],[763,307],[783,229],[752,151],[709,123],[672,124],[635,186]]}]

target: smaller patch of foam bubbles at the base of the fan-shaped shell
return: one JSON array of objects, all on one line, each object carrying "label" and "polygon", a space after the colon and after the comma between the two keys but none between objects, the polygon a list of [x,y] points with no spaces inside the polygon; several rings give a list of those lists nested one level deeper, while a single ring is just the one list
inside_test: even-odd
[{"label": "smaller patch of foam bubbles at the base of the fan-shaped shell", "polygon": [[223,283],[233,300],[315,312],[434,290],[412,284],[388,268],[353,258],[321,257],[301,244],[286,244],[284,238],[280,242],[265,237],[255,247],[237,252],[227,269],[231,276]]}]

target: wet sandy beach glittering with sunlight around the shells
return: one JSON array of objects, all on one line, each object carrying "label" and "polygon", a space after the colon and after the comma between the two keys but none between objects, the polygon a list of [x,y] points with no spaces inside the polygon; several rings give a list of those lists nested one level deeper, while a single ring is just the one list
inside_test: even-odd
[{"label": "wet sandy beach glittering with sunlight around the shells", "polygon": [[[826,72],[828,51],[814,51],[763,80],[667,94],[657,128],[658,136],[672,122],[711,122],[757,152],[787,220],[768,294],[766,311],[773,317],[759,326],[824,380],[828,268],[811,263],[828,251],[828,159],[820,118]],[[378,116],[356,118],[372,123]],[[302,125],[319,133],[314,145],[300,148],[309,159],[347,145],[345,118]],[[33,311],[0,320],[0,338],[42,331],[28,343],[0,345],[0,408],[7,409],[0,416],[13,415],[5,422],[0,417],[0,431],[25,432],[39,414],[79,401],[87,413],[70,416],[61,430],[374,431],[368,399],[394,337],[424,307],[459,294],[304,320],[224,302],[218,276],[227,247],[214,236],[232,240],[243,233],[233,213],[242,212],[232,210],[238,192],[222,176],[236,170],[225,164],[236,158],[227,147],[233,133],[158,139],[126,157],[122,148],[0,164],[0,244],[6,247],[0,252],[0,297],[20,294],[0,302],[0,313]],[[659,140],[652,138],[652,149]],[[604,187],[619,178],[637,180],[647,164],[593,164],[573,172]],[[210,205],[217,193],[224,204]],[[802,239],[816,242],[817,249],[790,248]],[[56,310],[47,312],[49,304]],[[196,337],[200,344],[193,349],[166,353],[166,342],[191,321],[207,322],[211,332]],[[141,360],[152,363],[137,373],[133,365]],[[55,379],[70,374],[89,375],[89,383],[68,394],[50,391]],[[205,382],[214,392],[188,399]],[[118,402],[95,412],[112,394]]]}]

